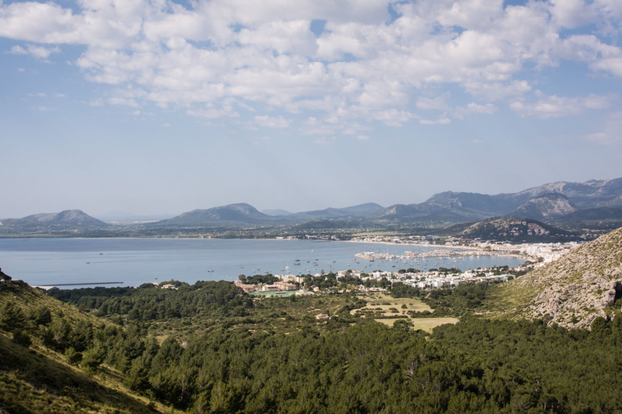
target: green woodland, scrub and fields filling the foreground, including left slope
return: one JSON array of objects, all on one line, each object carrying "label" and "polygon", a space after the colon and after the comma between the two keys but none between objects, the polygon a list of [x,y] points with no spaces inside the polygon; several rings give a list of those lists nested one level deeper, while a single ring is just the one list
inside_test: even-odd
[{"label": "green woodland, scrub and fields filling the foreground, including left slope", "polygon": [[48,295],[0,282],[0,410],[622,411],[622,319],[488,320],[474,313],[490,288],[259,299],[229,282]]}]

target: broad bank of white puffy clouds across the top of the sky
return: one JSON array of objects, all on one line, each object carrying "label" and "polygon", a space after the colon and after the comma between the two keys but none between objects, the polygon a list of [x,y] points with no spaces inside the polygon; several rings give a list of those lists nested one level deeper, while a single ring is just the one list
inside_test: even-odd
[{"label": "broad bank of white puffy clouds across the top of the sky", "polygon": [[[622,6],[614,0],[65,4],[0,2],[0,36],[21,42],[9,52],[40,60],[63,45],[82,46],[72,63],[88,81],[111,86],[91,104],[138,110],[155,103],[207,119],[305,112],[308,121],[296,125],[304,133],[358,136],[370,122],[417,119],[447,124],[450,117],[492,114],[501,102],[521,116],[577,115],[607,108],[608,98],[539,96],[529,75],[574,61],[595,76],[622,77],[615,41]],[[311,30],[314,21],[323,22],[321,32]],[[588,25],[598,30],[565,32]],[[453,87],[468,100],[429,93]],[[416,113],[433,110],[442,114]],[[258,115],[252,123],[294,126],[281,115]]]}]

